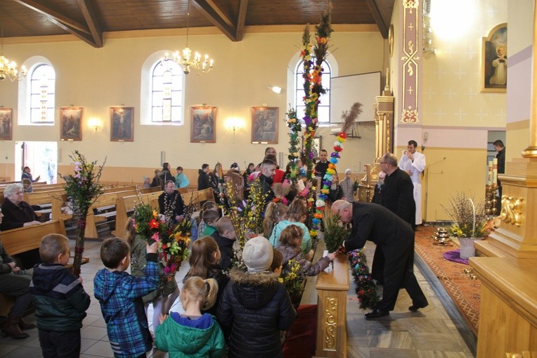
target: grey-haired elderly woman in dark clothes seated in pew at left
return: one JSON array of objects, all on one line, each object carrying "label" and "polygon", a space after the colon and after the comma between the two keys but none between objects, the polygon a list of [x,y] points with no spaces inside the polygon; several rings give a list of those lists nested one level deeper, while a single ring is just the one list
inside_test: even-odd
[{"label": "grey-haired elderly woman in dark clothes seated in pew at left", "polygon": [[[0,231],[41,224],[32,207],[23,201],[23,198],[22,184],[15,183],[6,186],[4,204],[2,204],[4,219],[0,224]],[[22,252],[17,257],[22,261],[22,267],[25,269],[34,267],[34,264],[41,262],[38,249]]]}]

